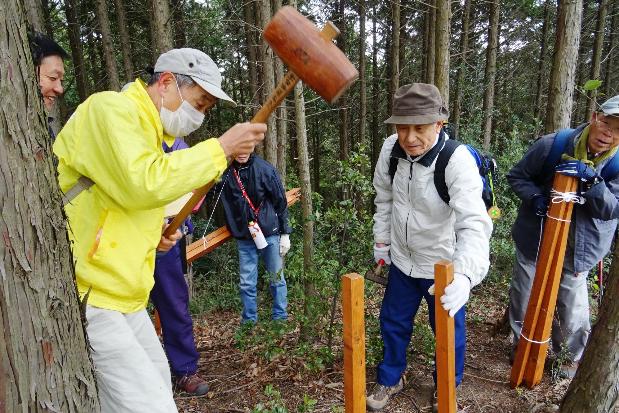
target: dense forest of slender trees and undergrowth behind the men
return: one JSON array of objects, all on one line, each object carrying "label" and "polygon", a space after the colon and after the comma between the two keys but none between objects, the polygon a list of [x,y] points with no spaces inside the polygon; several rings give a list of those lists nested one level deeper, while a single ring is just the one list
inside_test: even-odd
[{"label": "dense forest of slender trees and undergrowth behind the men", "polygon": [[[222,89],[239,105],[233,109],[218,102],[202,128],[187,138],[191,146],[251,119],[287,70],[261,40],[271,15],[286,5],[282,0],[28,0],[25,4],[30,25],[53,37],[72,56],[65,63],[64,94],[54,103],[55,129],[89,95],[120,90],[135,77],[147,80],[145,67],[154,66],[160,53],[193,47],[219,65]],[[503,215],[494,222],[490,274],[472,293],[467,321],[500,330],[514,256],[510,230],[519,205],[504,175],[536,137],[588,121],[596,99],[603,102],[619,92],[614,69],[619,4],[291,0],[290,5],[320,27],[331,20],[340,28],[335,43],[359,68],[360,79],[335,105],[298,88],[267,123],[258,154],[278,168],[287,189],[301,186],[304,195],[302,205],[291,207],[295,230],[286,257],[292,322],[280,329],[262,321],[253,332],[231,328],[223,334],[233,351],[254,357],[244,367],[249,374],[243,384],[254,383],[263,374],[256,368],[278,354],[294,354],[309,372],[337,370],[334,366],[341,363],[340,276],[365,274],[373,266],[371,176],[382,142],[394,133],[383,124],[391,113],[394,90],[412,82],[436,84],[457,139],[483,147],[498,162],[494,185]],[[585,88],[589,80],[601,85],[586,90],[596,86],[589,82],[591,87]],[[214,206],[212,200],[202,206],[194,236],[225,225],[221,207]],[[608,266],[610,256],[605,259],[606,271]],[[599,298],[595,274],[597,269],[589,282],[593,319]],[[261,276],[260,316],[268,320],[270,298],[263,269]],[[204,320],[238,313],[237,282],[234,243],[194,263],[188,284],[197,333],[204,332]],[[368,366],[381,354],[381,292],[381,287],[366,282]],[[411,359],[421,359],[427,366],[433,337],[423,315],[420,318]],[[214,329],[206,331],[217,336]],[[199,337],[197,342],[204,345]],[[217,346],[216,340],[211,347],[202,346],[205,359]],[[256,397],[254,402],[261,402]],[[262,397],[273,408],[280,403],[272,387]],[[304,406],[313,408],[312,400],[306,399]],[[332,409],[337,411],[337,406]]]}]

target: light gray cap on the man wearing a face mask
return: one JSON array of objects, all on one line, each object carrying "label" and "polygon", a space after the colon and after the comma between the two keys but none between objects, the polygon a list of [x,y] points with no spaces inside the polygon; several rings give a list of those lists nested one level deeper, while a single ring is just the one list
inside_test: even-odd
[{"label": "light gray cap on the man wearing a face mask", "polygon": [[222,90],[222,74],[209,56],[199,50],[183,48],[163,53],[155,63],[155,73],[172,72],[191,77],[202,89],[228,105],[236,108],[236,102]]}]

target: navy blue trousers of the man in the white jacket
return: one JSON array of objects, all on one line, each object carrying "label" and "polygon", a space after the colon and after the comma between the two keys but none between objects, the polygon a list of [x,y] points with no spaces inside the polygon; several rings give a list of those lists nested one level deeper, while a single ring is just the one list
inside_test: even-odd
[{"label": "navy blue trousers of the man in the white jacket", "polygon": [[[376,369],[376,381],[379,385],[394,386],[400,381],[400,375],[406,368],[406,349],[409,346],[410,334],[413,332],[413,321],[425,298],[428,303],[430,326],[435,330],[435,297],[428,293],[434,280],[409,277],[394,264],[389,270],[389,281],[381,306],[381,334],[384,342],[383,362]],[[464,306],[454,316],[456,337],[456,386],[464,375]],[[436,360],[435,360],[436,362]],[[436,366],[436,363],[435,363]],[[436,386],[436,367],[432,373]]]}]

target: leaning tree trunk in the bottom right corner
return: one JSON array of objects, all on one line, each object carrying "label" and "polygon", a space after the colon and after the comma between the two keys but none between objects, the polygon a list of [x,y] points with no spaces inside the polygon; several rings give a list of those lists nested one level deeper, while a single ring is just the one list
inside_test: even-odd
[{"label": "leaning tree trunk in the bottom right corner", "polygon": [[619,401],[619,245],[605,285],[597,320],[560,413],[614,412]]}]

